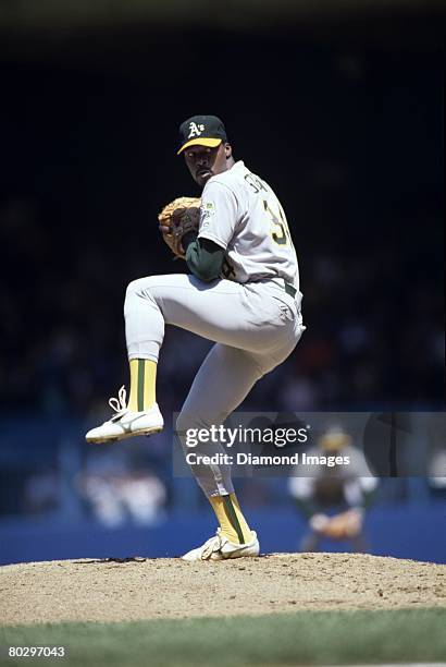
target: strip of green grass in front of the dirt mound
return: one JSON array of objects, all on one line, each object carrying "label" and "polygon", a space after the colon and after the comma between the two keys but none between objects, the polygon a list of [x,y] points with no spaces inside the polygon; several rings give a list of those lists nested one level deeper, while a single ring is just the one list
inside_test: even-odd
[{"label": "strip of green grass in front of the dirt mound", "polygon": [[[0,629],[1,665],[247,667],[439,663],[446,608],[318,611]],[[8,646],[66,646],[67,657],[8,658]],[[5,650],[7,647],[7,650]]]}]

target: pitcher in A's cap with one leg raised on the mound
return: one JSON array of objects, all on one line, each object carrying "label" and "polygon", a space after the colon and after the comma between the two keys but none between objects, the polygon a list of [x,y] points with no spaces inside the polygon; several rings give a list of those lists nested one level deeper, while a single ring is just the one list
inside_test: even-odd
[{"label": "pitcher in A's cap with one leg raised on the mound", "polygon": [[[124,315],[131,371],[110,404],[115,415],[87,433],[103,442],[157,433],[156,374],[165,324],[215,342],[194,379],[176,428],[218,425],[264,374],[294,350],[305,327],[296,252],[284,210],[271,187],[235,161],[222,121],[196,116],[179,128],[179,150],[203,187],[199,231],[183,239],[191,275],[152,276],[129,283]],[[165,230],[162,230],[165,231]],[[209,445],[198,446],[213,453]],[[222,450],[215,445],[213,450]],[[187,560],[257,556],[259,542],[240,511],[230,465],[194,465],[215,512],[214,537]]]}]

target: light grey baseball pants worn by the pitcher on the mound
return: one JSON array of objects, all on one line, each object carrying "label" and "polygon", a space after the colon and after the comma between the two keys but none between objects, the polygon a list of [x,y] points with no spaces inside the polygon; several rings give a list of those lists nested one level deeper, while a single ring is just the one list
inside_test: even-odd
[{"label": "light grey baseball pants worn by the pitcher on the mound", "polygon": [[[296,347],[305,326],[301,294],[290,296],[281,279],[240,284],[231,280],[205,283],[195,276],[173,274],[140,278],[125,296],[128,359],[158,361],[164,326],[174,325],[214,341],[199,368],[176,422],[185,445],[187,428],[220,425],[263,375]],[[221,445],[199,445],[224,452]],[[207,496],[234,493],[230,465],[194,465]]]}]

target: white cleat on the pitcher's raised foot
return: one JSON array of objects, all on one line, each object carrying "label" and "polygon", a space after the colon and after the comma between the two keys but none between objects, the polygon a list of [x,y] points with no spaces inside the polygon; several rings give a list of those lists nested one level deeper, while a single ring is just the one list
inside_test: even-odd
[{"label": "white cleat on the pitcher's raised foot", "polygon": [[148,436],[160,433],[164,427],[164,420],[157,403],[149,410],[133,412],[126,405],[125,387],[121,387],[119,399],[111,398],[109,405],[115,411],[111,420],[101,426],[91,428],[85,436],[87,442],[109,442],[123,440],[133,436]]}]

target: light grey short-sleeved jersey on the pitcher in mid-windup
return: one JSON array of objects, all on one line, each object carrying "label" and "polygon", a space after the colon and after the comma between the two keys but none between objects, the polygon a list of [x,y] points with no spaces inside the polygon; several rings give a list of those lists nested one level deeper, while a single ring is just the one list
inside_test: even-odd
[{"label": "light grey short-sleeved jersey on the pitcher in mid-windup", "polygon": [[198,238],[226,251],[223,277],[283,278],[299,290],[299,269],[284,210],[271,187],[239,160],[206,183]]}]

